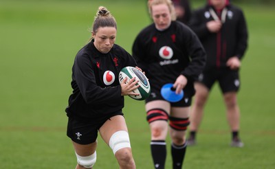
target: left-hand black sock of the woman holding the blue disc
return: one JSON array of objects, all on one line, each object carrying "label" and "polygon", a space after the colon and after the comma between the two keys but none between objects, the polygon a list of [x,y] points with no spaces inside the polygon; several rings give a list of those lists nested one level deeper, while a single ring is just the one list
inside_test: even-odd
[{"label": "left-hand black sock of the woman holding the blue disc", "polygon": [[166,142],[164,140],[151,140],[151,155],[154,166],[157,169],[164,169],[166,160]]}]

